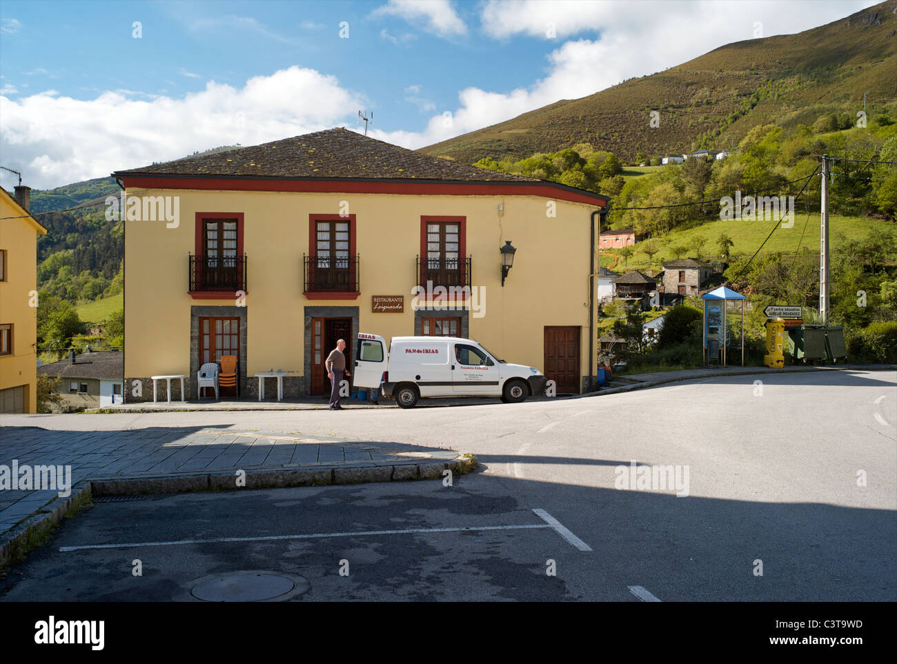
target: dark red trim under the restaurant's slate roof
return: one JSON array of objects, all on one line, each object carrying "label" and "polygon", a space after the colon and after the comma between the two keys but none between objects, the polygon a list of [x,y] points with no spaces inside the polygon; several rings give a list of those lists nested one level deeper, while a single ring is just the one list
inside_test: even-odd
[{"label": "dark red trim under the restaurant's slate roof", "polygon": [[250,192],[318,192],[340,194],[533,195],[605,207],[606,196],[553,182],[409,182],[355,179],[287,179],[239,177],[121,176],[126,189],[203,189]]}]

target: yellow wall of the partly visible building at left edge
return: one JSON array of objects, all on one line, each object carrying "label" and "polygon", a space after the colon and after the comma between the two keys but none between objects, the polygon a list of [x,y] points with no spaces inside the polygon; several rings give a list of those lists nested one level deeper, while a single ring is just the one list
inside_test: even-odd
[{"label": "yellow wall of the partly visible building at left edge", "polygon": [[0,249],[6,252],[5,280],[0,281],[0,323],[13,323],[13,355],[0,356],[0,390],[26,385],[24,410],[36,410],[37,308],[30,306],[38,288],[39,230],[22,217],[22,208],[0,192]]}]

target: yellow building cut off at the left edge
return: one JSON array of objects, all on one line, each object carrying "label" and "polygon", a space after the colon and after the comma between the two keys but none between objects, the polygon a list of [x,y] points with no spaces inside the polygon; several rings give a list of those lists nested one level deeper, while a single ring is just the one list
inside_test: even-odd
[{"label": "yellow building cut off at the left edge", "polygon": [[37,410],[38,236],[30,187],[0,188],[0,413]]}]

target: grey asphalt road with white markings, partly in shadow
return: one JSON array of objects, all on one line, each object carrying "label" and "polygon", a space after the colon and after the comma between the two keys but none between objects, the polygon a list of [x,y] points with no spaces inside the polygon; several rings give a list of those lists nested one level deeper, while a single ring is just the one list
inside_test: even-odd
[{"label": "grey asphalt road with white markings, partly in shadow", "polygon": [[[897,372],[762,381],[445,409],[19,418],[358,436],[475,453],[483,470],[452,487],[98,503],[0,580],[0,599],[191,599],[197,580],[245,570],[304,577],[296,600],[897,599]],[[678,488],[621,488],[632,461],[671,466]]]}]

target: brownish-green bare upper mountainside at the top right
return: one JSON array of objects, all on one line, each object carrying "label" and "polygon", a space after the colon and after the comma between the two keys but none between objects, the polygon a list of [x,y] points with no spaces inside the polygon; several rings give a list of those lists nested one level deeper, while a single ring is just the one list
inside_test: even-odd
[{"label": "brownish-green bare upper mountainside at the top right", "polygon": [[[657,156],[727,148],[757,125],[812,125],[829,112],[856,118],[864,92],[870,118],[888,110],[895,116],[895,6],[890,0],[797,35],[728,44],[665,72],[563,99],[420,151],[472,164],[588,142],[631,163],[639,151]],[[655,110],[660,125],[652,128]]]}]

